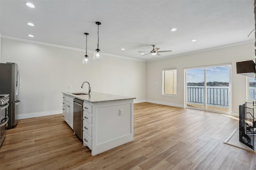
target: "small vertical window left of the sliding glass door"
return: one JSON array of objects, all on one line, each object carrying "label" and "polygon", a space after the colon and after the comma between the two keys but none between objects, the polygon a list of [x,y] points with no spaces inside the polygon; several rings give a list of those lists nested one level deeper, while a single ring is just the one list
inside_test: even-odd
[{"label": "small vertical window left of the sliding glass door", "polygon": [[177,70],[163,70],[163,95],[177,95]]}]

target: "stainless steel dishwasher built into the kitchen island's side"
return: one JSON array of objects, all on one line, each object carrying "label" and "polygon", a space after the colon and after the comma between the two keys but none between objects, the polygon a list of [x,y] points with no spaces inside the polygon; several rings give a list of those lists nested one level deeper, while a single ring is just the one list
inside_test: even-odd
[{"label": "stainless steel dishwasher built into the kitchen island's side", "polygon": [[74,99],[74,115],[73,115],[73,130],[80,138],[83,138],[83,101]]}]

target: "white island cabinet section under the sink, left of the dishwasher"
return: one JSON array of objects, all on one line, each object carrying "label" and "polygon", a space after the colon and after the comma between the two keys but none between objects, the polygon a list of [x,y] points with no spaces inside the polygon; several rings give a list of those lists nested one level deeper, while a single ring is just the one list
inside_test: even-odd
[{"label": "white island cabinet section under the sink, left of the dishwasher", "polygon": [[66,95],[63,95],[63,106],[62,106],[62,117],[63,117],[63,120],[66,121],[66,123],[68,123],[68,125],[73,129],[73,109],[74,109],[74,106],[73,106],[73,101],[74,99],[69,97],[69,96],[66,96]]}]

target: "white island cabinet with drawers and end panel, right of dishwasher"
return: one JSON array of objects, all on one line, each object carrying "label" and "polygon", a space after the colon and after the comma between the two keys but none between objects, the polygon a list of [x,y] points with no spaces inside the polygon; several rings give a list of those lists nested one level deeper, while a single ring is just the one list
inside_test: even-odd
[{"label": "white island cabinet with drawers and end panel, right of dishwasher", "polygon": [[132,140],[133,100],[84,101],[83,144],[91,149],[92,156]]}]

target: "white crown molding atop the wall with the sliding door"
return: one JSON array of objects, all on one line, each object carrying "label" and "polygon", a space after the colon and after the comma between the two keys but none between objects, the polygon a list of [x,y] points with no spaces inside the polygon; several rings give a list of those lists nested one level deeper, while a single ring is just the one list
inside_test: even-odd
[{"label": "white crown molding atop the wall with the sliding door", "polygon": [[242,42],[238,42],[238,43],[232,43],[232,44],[226,44],[226,45],[221,45],[221,46],[217,46],[217,47],[212,47],[212,48],[208,48],[208,49],[202,49],[202,50],[197,50],[197,51],[191,51],[188,53],[181,53],[181,54],[177,54],[177,55],[171,55],[168,57],[163,57],[160,59],[152,59],[152,60],[147,60],[146,62],[149,61],[156,61],[156,60],[164,60],[164,59],[168,59],[168,58],[172,58],[172,57],[179,57],[179,56],[184,56],[184,55],[190,55],[190,54],[194,54],[194,53],[200,53],[200,52],[204,52],[204,51],[211,51],[211,50],[216,50],[216,49],[223,49],[226,47],[233,47],[236,45],[242,45],[242,44],[248,44],[248,43],[255,43],[255,39],[251,39],[248,41],[242,41]]}]

